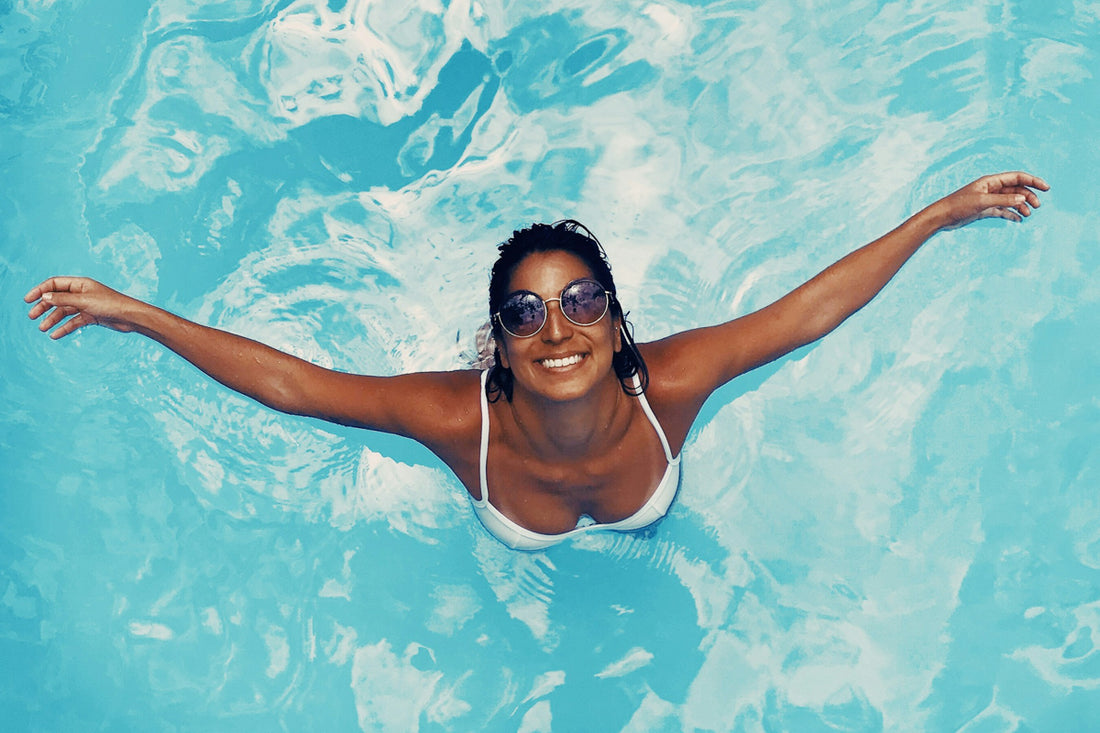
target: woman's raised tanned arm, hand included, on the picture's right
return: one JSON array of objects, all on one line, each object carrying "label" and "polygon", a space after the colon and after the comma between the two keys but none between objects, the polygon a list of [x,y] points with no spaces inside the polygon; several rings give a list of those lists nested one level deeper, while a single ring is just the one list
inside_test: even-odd
[{"label": "woman's raised tanned arm, hand included, on the picture's right", "polygon": [[983,176],[851,252],[771,305],[735,320],[646,344],[644,353],[667,394],[683,406],[739,374],[822,338],[867,305],[933,234],[978,219],[1022,221],[1049,186],[1027,173]]}]

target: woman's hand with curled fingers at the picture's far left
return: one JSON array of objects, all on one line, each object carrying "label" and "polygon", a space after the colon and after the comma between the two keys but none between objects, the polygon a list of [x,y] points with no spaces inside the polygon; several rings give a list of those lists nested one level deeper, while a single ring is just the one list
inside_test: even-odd
[{"label": "woman's hand with curled fingers at the picture's far left", "polygon": [[45,316],[38,330],[45,332],[53,328],[52,339],[92,325],[132,331],[134,327],[128,314],[144,305],[88,277],[51,277],[31,288],[23,300],[34,304],[28,313],[31,319]]}]

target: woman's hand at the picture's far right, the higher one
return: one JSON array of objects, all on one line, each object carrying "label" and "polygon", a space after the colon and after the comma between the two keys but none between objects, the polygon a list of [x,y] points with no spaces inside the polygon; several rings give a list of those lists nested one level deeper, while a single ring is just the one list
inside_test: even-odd
[{"label": "woman's hand at the picture's far right, the higher one", "polygon": [[1040,207],[1036,190],[1050,186],[1038,176],[1022,171],[982,176],[928,207],[937,229],[958,229],[978,219],[1000,218],[1023,221]]}]

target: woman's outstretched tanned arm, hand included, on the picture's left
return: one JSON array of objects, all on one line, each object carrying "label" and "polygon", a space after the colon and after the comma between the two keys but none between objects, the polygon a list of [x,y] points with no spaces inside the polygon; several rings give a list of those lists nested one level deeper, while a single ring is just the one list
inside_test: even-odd
[{"label": "woman's outstretched tanned arm, hand included, on the picture's left", "polygon": [[[59,339],[85,326],[135,331],[231,390],[293,415],[395,433],[438,449],[470,411],[476,375],[437,372],[363,376],[324,369],[258,341],[200,326],[87,277],[51,277],[23,298],[40,330]],[[476,403],[473,403],[476,406]],[[441,419],[443,416],[455,422]],[[451,426],[451,427],[449,427]]]}]

